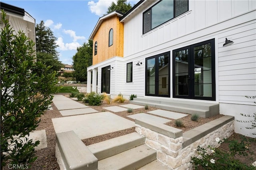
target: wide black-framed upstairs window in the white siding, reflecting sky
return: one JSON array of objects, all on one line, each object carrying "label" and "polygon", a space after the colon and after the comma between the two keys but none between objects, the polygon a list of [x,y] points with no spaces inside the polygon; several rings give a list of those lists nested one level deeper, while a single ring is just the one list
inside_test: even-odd
[{"label": "wide black-framed upstairs window in the white siding, reflecting sky", "polygon": [[188,11],[188,0],[161,0],[143,13],[143,33]]}]

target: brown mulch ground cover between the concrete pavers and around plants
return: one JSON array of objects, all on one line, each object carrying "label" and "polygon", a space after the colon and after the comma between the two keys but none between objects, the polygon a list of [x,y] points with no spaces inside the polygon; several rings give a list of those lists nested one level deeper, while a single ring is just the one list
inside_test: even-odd
[{"label": "brown mulch ground cover between the concrete pavers and around plants", "polygon": [[[124,104],[128,104],[129,101],[126,100],[124,102]],[[96,109],[98,111],[108,111],[106,109],[103,109],[102,107],[108,107],[108,106],[118,106],[118,105],[123,105],[120,103],[113,103],[113,104],[106,104],[106,102],[103,102],[100,106],[90,106],[93,109]],[[54,127],[52,124],[52,118],[57,118],[57,117],[62,117],[62,115],[60,114],[60,112],[58,111],[58,109],[55,107],[54,104],[52,104],[52,108],[53,110],[48,110],[46,111],[46,113],[41,117],[41,122],[39,124],[39,126],[37,127],[36,130],[42,130],[45,129],[46,130],[46,137],[47,137],[47,148],[44,149],[40,149],[36,151],[36,156],[38,156],[37,160],[35,162],[33,162],[32,168],[31,170],[59,170],[59,166],[58,163],[56,161],[56,157],[55,157],[55,146],[56,146],[56,135],[55,135],[55,131],[54,131]],[[155,110],[157,108],[154,107],[149,107],[149,109],[145,110],[144,108],[141,109],[133,109],[132,113],[128,113],[127,111],[122,111],[122,112],[117,112],[114,113],[116,115],[119,115],[121,117],[124,117],[126,119],[129,119],[131,121],[134,121],[133,119],[126,117],[127,115],[132,115],[132,114],[136,114],[136,113],[146,113],[147,111],[152,111]],[[156,115],[155,115],[156,116]],[[171,122],[166,123],[167,125],[176,127],[178,129],[182,129],[182,131],[188,131],[190,129],[193,129],[194,127],[198,127],[204,123],[207,123],[209,121],[212,121],[214,119],[218,119],[219,117],[221,117],[223,115],[216,115],[214,117],[210,117],[210,118],[200,118],[198,121],[191,121],[191,117],[190,115],[181,118],[181,120],[184,123],[184,127],[176,127],[174,125],[174,121],[172,119]],[[164,117],[165,119],[168,119],[166,117]],[[84,139],[82,140],[85,145],[92,145],[94,143],[98,143],[101,141],[105,141],[108,139],[112,139],[114,137],[118,137],[118,136],[122,136],[128,133],[133,133],[135,132],[135,128],[129,128],[129,129],[124,129],[122,131],[117,131],[117,132],[113,132],[113,133],[108,133],[105,135],[101,135],[98,137],[92,137],[92,138],[88,138],[88,139]],[[238,139],[238,134],[234,133],[230,139]],[[251,139],[251,138],[250,138]],[[221,144],[220,146],[221,149],[223,150],[228,150],[228,146],[224,145],[224,143]],[[251,143],[251,145],[249,146],[249,149],[254,151],[256,153],[256,142],[255,143]],[[254,154],[253,157],[251,157],[252,160],[256,161],[256,155]],[[248,164],[252,164],[251,161],[249,161],[249,157],[240,157],[239,159],[242,159],[245,163]],[[254,162],[253,161],[253,162]],[[7,167],[4,168],[4,170],[8,170]]]}]

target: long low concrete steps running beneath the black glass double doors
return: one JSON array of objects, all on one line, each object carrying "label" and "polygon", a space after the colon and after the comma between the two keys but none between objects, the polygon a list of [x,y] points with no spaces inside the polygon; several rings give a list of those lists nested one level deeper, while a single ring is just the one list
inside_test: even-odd
[{"label": "long low concrete steps running beneath the black glass double doors", "polygon": [[168,99],[154,99],[138,97],[130,101],[131,104],[157,107],[160,109],[179,111],[183,113],[197,113],[200,117],[211,117],[219,114],[219,104],[207,102],[190,102]]}]

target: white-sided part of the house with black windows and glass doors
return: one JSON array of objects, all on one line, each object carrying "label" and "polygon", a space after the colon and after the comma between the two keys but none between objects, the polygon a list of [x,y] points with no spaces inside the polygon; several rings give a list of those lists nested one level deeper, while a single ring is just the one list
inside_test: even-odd
[{"label": "white-sided part of the house with black windows and glass doors", "polygon": [[[123,57],[87,68],[98,72],[98,92],[101,70],[111,66],[110,94],[216,103],[238,120],[255,113],[245,97],[256,96],[255,0],[144,0],[120,22]],[[223,47],[226,38],[234,44]],[[248,126],[235,121],[235,132],[252,136]]]}]

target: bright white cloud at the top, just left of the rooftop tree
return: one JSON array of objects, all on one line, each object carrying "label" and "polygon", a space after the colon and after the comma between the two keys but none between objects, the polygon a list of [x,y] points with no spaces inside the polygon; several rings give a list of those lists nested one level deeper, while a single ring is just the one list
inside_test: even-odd
[{"label": "bright white cloud at the top, just left of the rooftop tree", "polygon": [[99,0],[96,3],[94,1],[89,1],[88,6],[92,13],[96,14],[97,16],[102,16],[107,12],[111,3],[112,0]]}]

